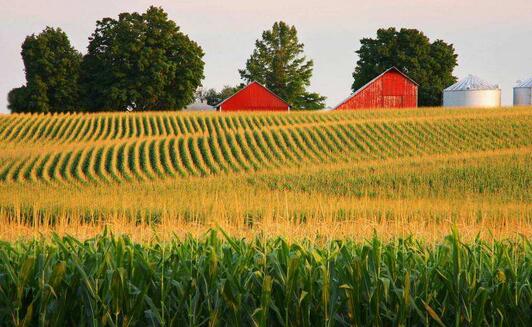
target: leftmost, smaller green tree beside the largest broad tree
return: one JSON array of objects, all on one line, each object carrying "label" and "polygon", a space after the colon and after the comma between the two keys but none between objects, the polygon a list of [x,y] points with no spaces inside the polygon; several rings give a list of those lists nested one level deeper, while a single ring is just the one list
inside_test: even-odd
[{"label": "leftmost, smaller green tree beside the largest broad tree", "polygon": [[81,54],[60,28],[45,28],[22,44],[26,85],[11,90],[12,112],[72,112],[79,105]]}]

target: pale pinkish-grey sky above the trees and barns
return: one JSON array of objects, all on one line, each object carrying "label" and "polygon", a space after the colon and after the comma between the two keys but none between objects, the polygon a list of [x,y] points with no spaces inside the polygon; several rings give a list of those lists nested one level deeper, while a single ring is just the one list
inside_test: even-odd
[{"label": "pale pinkish-grey sky above the trees and barns", "polygon": [[61,27],[85,53],[97,20],[150,5],[202,46],[206,88],[240,83],[238,69],[255,40],[278,20],[296,26],[314,61],[309,90],[327,96],[328,106],[349,95],[359,40],[381,27],[417,28],[453,44],[455,76],[499,84],[504,105],[515,82],[532,77],[531,0],[0,0],[0,113],[9,112],[9,90],[25,83],[20,47],[27,35]]}]

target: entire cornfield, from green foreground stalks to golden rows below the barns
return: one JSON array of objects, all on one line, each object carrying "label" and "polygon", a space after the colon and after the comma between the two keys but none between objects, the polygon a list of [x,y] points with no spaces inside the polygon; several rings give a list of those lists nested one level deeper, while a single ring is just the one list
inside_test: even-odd
[{"label": "entire cornfield, from green foreground stalks to golden rows below the barns", "polygon": [[532,107],[0,116],[0,321],[527,326],[531,163]]}]

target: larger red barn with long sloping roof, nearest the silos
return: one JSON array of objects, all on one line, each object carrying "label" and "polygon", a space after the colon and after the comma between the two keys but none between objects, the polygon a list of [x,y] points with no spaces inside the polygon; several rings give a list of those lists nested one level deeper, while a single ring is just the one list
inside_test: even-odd
[{"label": "larger red barn with long sloping roof, nearest the silos", "polygon": [[414,108],[418,84],[392,67],[362,86],[335,109]]}]

